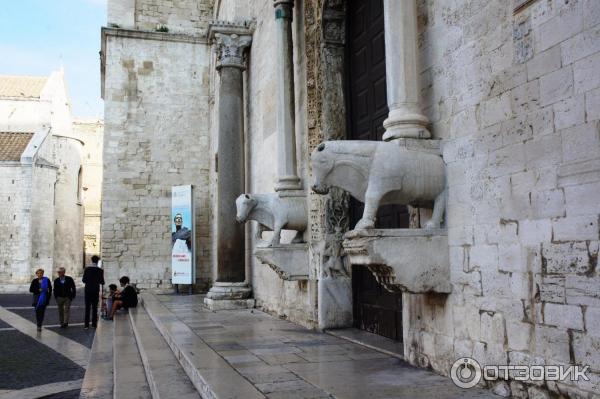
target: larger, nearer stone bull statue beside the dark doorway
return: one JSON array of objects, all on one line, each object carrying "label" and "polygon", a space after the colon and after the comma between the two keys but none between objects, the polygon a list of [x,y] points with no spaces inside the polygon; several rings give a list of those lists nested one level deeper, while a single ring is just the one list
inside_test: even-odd
[{"label": "larger, nearer stone bull statue beside the dark doorway", "polygon": [[432,202],[433,216],[425,228],[440,227],[446,179],[439,155],[393,141],[326,141],[311,154],[311,164],[314,192],[326,194],[329,187],[339,187],[364,202],[356,230],[375,227],[380,205],[430,207]]}]

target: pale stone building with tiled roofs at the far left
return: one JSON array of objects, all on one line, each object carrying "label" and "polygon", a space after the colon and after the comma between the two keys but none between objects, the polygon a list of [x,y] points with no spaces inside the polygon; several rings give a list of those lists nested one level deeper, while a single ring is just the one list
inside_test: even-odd
[{"label": "pale stone building with tiled roofs at the far left", "polygon": [[0,278],[83,266],[81,151],[63,71],[0,76]]}]

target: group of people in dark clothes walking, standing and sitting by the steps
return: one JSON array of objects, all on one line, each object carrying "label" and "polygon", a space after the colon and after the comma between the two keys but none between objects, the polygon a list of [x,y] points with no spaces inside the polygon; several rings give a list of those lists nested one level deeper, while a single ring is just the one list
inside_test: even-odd
[{"label": "group of people in dark clothes walking, standing and sitting by the steps", "polygon": [[[106,299],[106,320],[112,320],[114,313],[121,308],[134,308],[137,306],[137,292],[129,284],[129,277],[123,276],[119,279],[122,290],[117,289],[116,284],[109,285],[109,292],[104,296],[104,270],[98,266],[100,258],[92,256],[92,265],[85,268],[82,282],[85,284],[85,318],[84,328],[90,328],[90,316],[92,327],[98,325],[98,303],[100,298]],[[58,277],[54,280],[54,290],[52,282],[48,277],[44,277],[44,269],[38,269],[35,272],[36,278],[33,279],[29,287],[29,292],[33,294],[32,306],[35,308],[35,316],[38,331],[42,331],[44,314],[46,307],[50,303],[52,292],[58,307],[58,317],[61,328],[69,326],[69,311],[71,302],[75,299],[77,289],[72,277],[65,275],[65,268],[60,267],[57,270]],[[102,296],[101,296],[102,295]]]}]

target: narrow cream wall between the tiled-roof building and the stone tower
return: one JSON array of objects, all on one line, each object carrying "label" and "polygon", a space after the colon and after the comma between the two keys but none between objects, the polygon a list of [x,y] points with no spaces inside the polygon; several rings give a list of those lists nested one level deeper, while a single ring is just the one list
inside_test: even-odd
[{"label": "narrow cream wall between the tiled-roof building and the stone tower", "polygon": [[91,264],[92,256],[100,255],[103,133],[104,123],[101,120],[75,119],[73,121],[73,135],[85,143],[81,153],[83,168],[81,190],[86,266]]}]

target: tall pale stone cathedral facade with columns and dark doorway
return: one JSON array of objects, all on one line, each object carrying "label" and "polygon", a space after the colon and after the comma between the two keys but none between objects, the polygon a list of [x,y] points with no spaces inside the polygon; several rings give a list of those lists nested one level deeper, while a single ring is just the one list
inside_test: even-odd
[{"label": "tall pale stone cathedral facade with columns and dark doorway", "polygon": [[[170,287],[170,190],[192,184],[207,306],[362,328],[444,375],[464,356],[589,365],[494,387],[600,392],[600,2],[109,0],[101,55],[109,279]],[[413,203],[355,230],[359,201],[312,190],[311,154],[346,140],[441,158],[440,228]],[[327,178],[364,192],[370,146]],[[435,174],[392,161],[376,184]],[[236,221],[242,194],[300,233]]]}]

